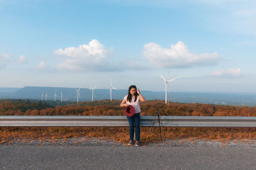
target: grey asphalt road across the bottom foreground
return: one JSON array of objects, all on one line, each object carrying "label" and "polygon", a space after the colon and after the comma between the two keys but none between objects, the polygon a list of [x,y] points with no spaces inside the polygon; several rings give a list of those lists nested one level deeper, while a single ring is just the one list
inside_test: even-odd
[{"label": "grey asphalt road across the bottom foreground", "polygon": [[256,169],[256,148],[0,146],[0,169]]}]

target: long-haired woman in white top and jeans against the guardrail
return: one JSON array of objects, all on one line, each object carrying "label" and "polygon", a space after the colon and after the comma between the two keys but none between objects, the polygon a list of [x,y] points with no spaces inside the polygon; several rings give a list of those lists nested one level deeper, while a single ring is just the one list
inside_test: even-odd
[{"label": "long-haired woman in white top and jeans against the guardrail", "polygon": [[[135,127],[135,146],[140,146],[140,103],[144,102],[145,98],[140,94],[140,90],[135,85],[131,85],[128,90],[128,94],[124,97],[124,100],[120,104],[121,107],[133,106],[135,114],[132,117],[127,116],[129,122],[130,141],[128,146],[134,144],[134,127]],[[135,125],[135,126],[134,126]]]}]

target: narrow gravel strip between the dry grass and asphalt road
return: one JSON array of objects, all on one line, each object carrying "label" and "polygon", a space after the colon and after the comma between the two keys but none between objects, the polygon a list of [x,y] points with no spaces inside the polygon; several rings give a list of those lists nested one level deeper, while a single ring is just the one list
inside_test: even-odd
[{"label": "narrow gravel strip between the dry grass and asphalt road", "polygon": [[[31,145],[31,146],[127,146],[124,143],[97,138],[68,138],[68,139],[15,139],[2,142],[4,145]],[[161,143],[141,143],[141,146],[158,147],[256,147],[256,139],[241,139],[230,141],[204,140],[204,139],[179,139],[168,140]]]}]

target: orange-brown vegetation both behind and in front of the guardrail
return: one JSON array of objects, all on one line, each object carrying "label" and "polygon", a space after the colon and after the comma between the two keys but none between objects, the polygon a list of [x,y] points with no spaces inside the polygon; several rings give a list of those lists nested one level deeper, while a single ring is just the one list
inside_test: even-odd
[{"label": "orange-brown vegetation both behind and in front of the guardrail", "polygon": [[[84,102],[67,106],[47,106],[44,103],[30,103],[29,101],[1,101],[0,115],[124,115],[123,108],[120,108],[121,101],[109,100]],[[213,104],[164,104],[164,101],[147,101],[141,103],[141,116],[155,115],[159,109],[161,115],[175,116],[250,116],[256,115],[256,108],[246,106],[220,106]],[[141,127],[141,143],[159,142],[159,129],[154,128],[148,134],[149,127]],[[162,130],[167,139],[196,139],[230,141],[232,139],[255,139],[255,128],[191,128],[166,127]],[[163,133],[162,133],[163,134]],[[29,141],[48,140],[58,143],[61,139],[68,138],[99,138],[120,143],[127,143],[129,140],[128,127],[0,127],[0,144],[10,144],[20,140]]]}]

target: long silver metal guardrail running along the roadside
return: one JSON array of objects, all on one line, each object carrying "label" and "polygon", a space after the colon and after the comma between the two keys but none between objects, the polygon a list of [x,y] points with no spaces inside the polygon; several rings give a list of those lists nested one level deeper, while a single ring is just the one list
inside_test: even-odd
[{"label": "long silver metal guardrail running along the roadside", "polygon": [[[154,116],[142,116],[151,127]],[[256,127],[256,117],[161,117],[163,127]],[[154,127],[159,126],[157,121]],[[0,127],[129,127],[125,116],[0,116]]]}]

